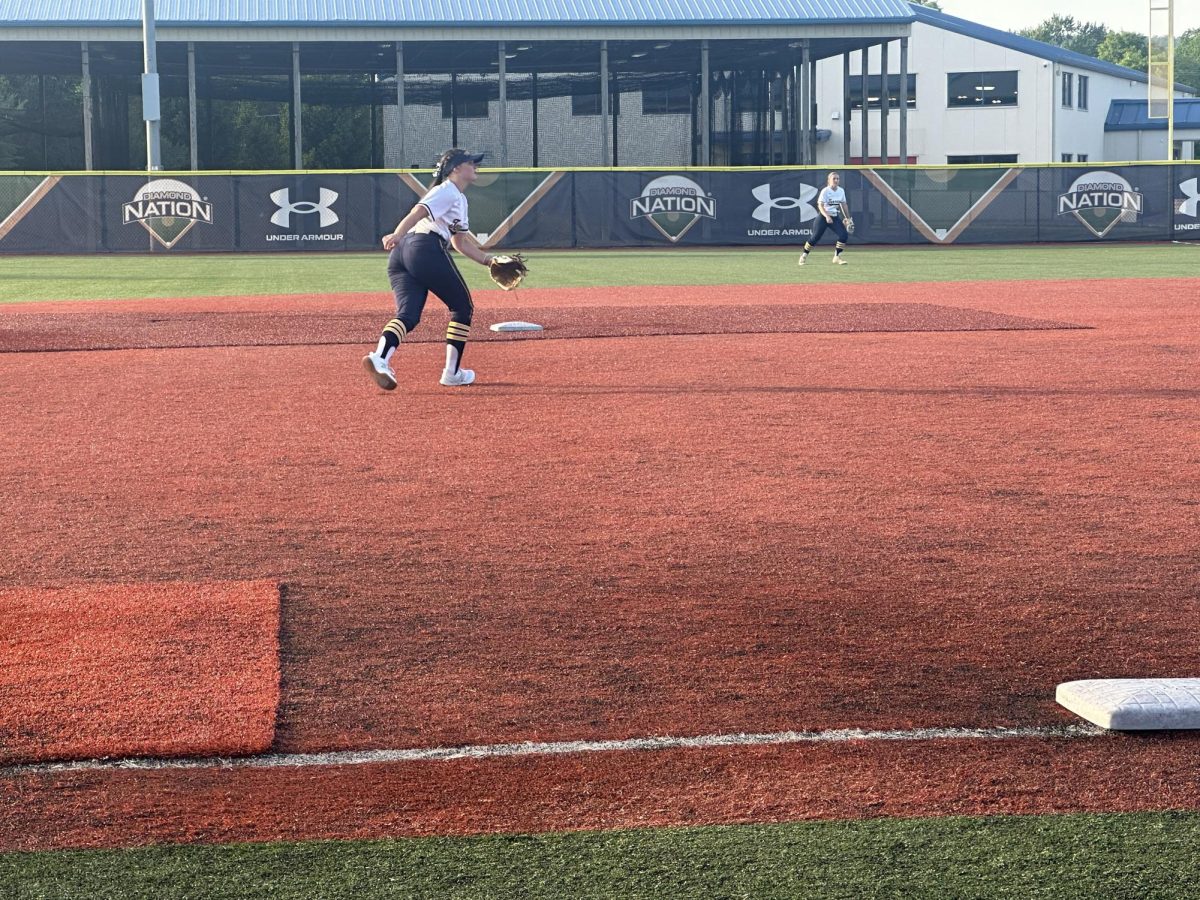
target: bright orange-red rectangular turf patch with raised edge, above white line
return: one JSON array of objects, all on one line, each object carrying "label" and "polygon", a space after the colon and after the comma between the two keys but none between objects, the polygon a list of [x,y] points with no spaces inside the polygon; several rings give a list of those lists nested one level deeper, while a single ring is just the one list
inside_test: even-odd
[{"label": "bright orange-red rectangular turf patch with raised edge, above white line", "polygon": [[271,745],[271,582],[0,589],[0,763]]}]

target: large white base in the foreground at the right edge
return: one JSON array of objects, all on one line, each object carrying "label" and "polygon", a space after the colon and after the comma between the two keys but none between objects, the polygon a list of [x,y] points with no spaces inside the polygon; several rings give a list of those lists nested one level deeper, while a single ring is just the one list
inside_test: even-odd
[{"label": "large white base in the foreground at the right edge", "polygon": [[1055,700],[1114,731],[1200,728],[1200,678],[1098,678],[1058,685]]}]

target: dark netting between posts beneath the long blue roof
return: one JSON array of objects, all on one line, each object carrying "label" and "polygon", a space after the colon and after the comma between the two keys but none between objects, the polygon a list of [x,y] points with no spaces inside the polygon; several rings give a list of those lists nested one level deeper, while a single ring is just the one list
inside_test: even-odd
[{"label": "dark netting between posts beneath the long blue roof", "polygon": [[[6,74],[0,59],[0,166],[80,168],[83,79],[61,71],[78,58],[71,59],[66,44],[42,55],[36,42],[20,47],[22,67],[42,60],[58,73]],[[95,168],[140,169],[140,46],[89,47]],[[712,47],[710,162],[798,161],[793,44],[713,41]],[[709,162],[698,41],[610,42],[607,127],[596,41],[305,42],[299,49],[299,158],[306,169],[425,169],[451,145],[486,152],[493,167]],[[290,42],[197,42],[190,54],[186,43],[160,43],[163,167],[191,167],[194,131],[200,169],[293,168],[294,50]]]}]

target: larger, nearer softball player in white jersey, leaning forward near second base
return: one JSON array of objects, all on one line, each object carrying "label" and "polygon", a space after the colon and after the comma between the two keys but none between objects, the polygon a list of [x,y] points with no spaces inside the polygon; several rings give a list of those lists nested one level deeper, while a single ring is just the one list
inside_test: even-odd
[{"label": "larger, nearer softball player in white jersey, leaning forward near second base", "polygon": [[478,178],[476,167],[482,158],[482,154],[468,154],[458,148],[446,150],[434,169],[433,187],[401,220],[396,230],[383,238],[383,248],[391,251],[388,278],[396,295],[396,317],[384,325],[378,347],[362,358],[362,367],[385,391],[396,388],[391,355],[421,320],[431,290],[450,308],[442,384],[454,388],[475,380],[475,373],[462,367],[475,305],[448,247],[452,246],[480,265],[492,259],[469,230],[463,193]]}]

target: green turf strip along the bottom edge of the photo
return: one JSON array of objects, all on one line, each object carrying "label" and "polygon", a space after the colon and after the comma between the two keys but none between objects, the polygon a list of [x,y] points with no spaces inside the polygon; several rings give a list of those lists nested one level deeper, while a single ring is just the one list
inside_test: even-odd
[{"label": "green turf strip along the bottom edge of the photo", "polygon": [[0,854],[6,900],[1195,898],[1200,814]]}]

